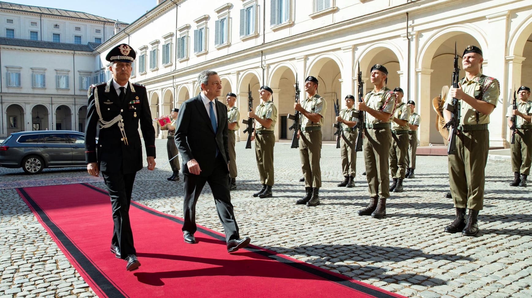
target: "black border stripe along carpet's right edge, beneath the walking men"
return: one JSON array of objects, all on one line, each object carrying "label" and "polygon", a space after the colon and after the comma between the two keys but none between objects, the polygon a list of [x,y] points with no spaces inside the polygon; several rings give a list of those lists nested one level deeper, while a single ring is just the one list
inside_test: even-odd
[{"label": "black border stripe along carpet's right edge, beneath the walking men", "polygon": [[[97,187],[92,186],[90,184],[81,183],[81,185],[85,185],[85,186],[87,186],[87,187],[89,187],[91,189],[94,189],[96,191],[101,192],[102,194],[108,195],[107,192],[104,191],[103,189],[97,188]],[[176,223],[181,224],[181,225],[183,224],[183,221],[180,220],[179,218],[175,217],[175,216],[164,214],[164,213],[160,213],[158,211],[154,211],[153,209],[146,208],[145,206],[140,205],[136,201],[132,200],[131,201],[131,205],[135,206],[136,208],[138,208],[138,209],[140,209],[140,210],[142,210],[144,212],[147,212],[149,214],[166,218],[167,220],[176,222]],[[206,235],[211,236],[214,239],[218,239],[218,240],[224,241],[224,242],[226,241],[225,236],[222,236],[222,235],[220,235],[218,233],[215,233],[215,232],[213,232],[211,230],[203,229],[203,227],[201,227],[201,226],[198,226],[197,230],[200,231],[201,233],[204,233]],[[401,295],[390,295],[388,293],[378,291],[375,288],[371,288],[371,287],[367,287],[367,286],[364,286],[364,285],[359,284],[359,283],[355,283],[353,281],[353,279],[350,279],[347,276],[343,277],[343,276],[335,275],[335,274],[333,274],[331,272],[325,271],[325,269],[321,269],[319,267],[316,267],[316,266],[310,265],[310,264],[306,264],[304,262],[295,262],[293,260],[281,257],[279,255],[276,255],[275,253],[272,253],[272,252],[264,250],[264,249],[256,249],[256,248],[247,247],[247,248],[244,248],[244,250],[257,253],[258,255],[270,258],[272,260],[279,261],[279,262],[281,262],[283,264],[286,264],[288,266],[294,267],[296,269],[299,269],[299,270],[305,271],[307,273],[310,273],[312,275],[315,275],[315,276],[321,277],[323,279],[326,279],[327,281],[334,282],[334,283],[337,283],[339,285],[342,285],[342,286],[345,286],[345,287],[348,287],[348,288],[352,288],[355,291],[359,291],[359,292],[362,292],[362,293],[365,293],[365,294],[368,294],[368,295],[372,295],[372,296],[377,297],[377,298],[390,298],[390,297],[397,298],[397,297],[402,297]],[[391,294],[393,294],[393,293],[391,293]]]}]

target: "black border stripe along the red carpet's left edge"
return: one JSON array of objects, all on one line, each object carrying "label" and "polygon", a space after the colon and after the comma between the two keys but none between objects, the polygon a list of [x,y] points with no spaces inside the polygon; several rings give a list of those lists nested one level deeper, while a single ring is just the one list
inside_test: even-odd
[{"label": "black border stripe along the red carpet's left edge", "polygon": [[[81,185],[86,185],[81,183]],[[23,196],[24,199],[28,201],[31,208],[38,214],[40,220],[54,233],[57,240],[59,240],[62,246],[68,251],[68,253],[76,260],[78,265],[82,270],[85,271],[87,276],[92,279],[92,282],[98,287],[98,290],[105,294],[107,297],[113,298],[126,298],[129,297],[120,292],[117,286],[109,280],[96,266],[91,262],[85,255],[82,253],[78,247],[72,243],[72,241],[61,231],[61,229],[50,220],[48,215],[43,211],[43,209],[35,203],[35,201],[30,197],[30,195],[23,188],[16,188],[19,193]],[[107,193],[105,193],[107,194]],[[66,253],[65,253],[66,255]]]}]

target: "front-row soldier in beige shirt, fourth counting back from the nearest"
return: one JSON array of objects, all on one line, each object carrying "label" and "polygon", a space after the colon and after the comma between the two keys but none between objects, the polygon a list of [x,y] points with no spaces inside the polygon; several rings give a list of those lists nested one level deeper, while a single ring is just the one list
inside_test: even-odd
[{"label": "front-row soldier in beige shirt, fourth counting back from the nearest", "polygon": [[255,119],[255,131],[251,140],[255,140],[255,157],[259,176],[261,178],[261,190],[253,194],[254,197],[268,198],[272,196],[273,185],[273,146],[275,145],[275,124],[277,122],[277,107],[273,104],[271,95],[273,91],[268,86],[262,86],[259,90],[261,103],[255,108],[255,112],[248,112],[248,118]]}]

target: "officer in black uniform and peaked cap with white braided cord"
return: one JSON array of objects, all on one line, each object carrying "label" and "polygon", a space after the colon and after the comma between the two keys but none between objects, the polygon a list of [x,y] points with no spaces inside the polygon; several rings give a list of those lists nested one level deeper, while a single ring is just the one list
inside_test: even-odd
[{"label": "officer in black uniform and peaked cap with white braided cord", "polygon": [[111,197],[114,222],[111,252],[126,260],[129,271],[140,266],[129,221],[135,175],[143,167],[139,122],[146,146],[147,168],[155,168],[155,130],[146,88],[129,82],[135,56],[135,51],[125,43],[109,51],[106,60],[111,62],[109,69],[113,78],[107,83],[90,86],[85,127],[87,171],[95,177],[102,173]]}]

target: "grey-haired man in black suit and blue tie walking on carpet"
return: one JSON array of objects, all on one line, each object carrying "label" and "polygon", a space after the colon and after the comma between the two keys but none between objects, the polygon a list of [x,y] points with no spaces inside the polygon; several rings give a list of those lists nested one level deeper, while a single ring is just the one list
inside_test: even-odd
[{"label": "grey-haired man in black suit and blue tie walking on carpet", "polygon": [[234,252],[250,244],[251,239],[240,239],[227,183],[228,164],[232,162],[227,141],[227,107],[214,100],[222,90],[216,72],[201,72],[198,82],[201,92],[181,104],[174,136],[183,160],[183,238],[187,243],[196,243],[196,202],[208,182],[226,233],[227,252]]}]

